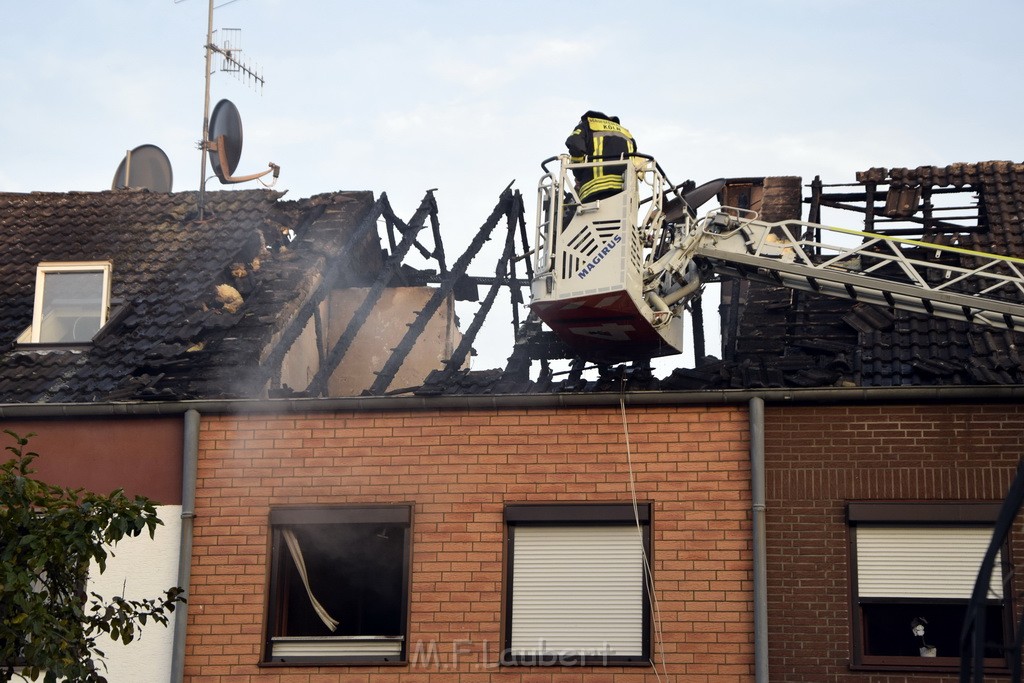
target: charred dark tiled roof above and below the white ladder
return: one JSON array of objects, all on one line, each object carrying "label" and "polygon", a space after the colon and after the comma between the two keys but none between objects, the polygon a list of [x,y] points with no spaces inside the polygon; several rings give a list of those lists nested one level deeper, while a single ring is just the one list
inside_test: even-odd
[{"label": "charred dark tiled roof above and below the white ladder", "polygon": [[[859,200],[819,187],[820,202],[853,211],[844,214],[850,220],[859,213],[871,231],[1024,257],[1024,164],[876,168],[857,174],[857,181]],[[962,265],[971,260],[961,258]],[[742,309],[731,346],[721,361],[699,370],[703,377],[677,372],[669,384],[694,379],[718,388],[1024,383],[1019,333],[756,282],[725,287]]]}]

